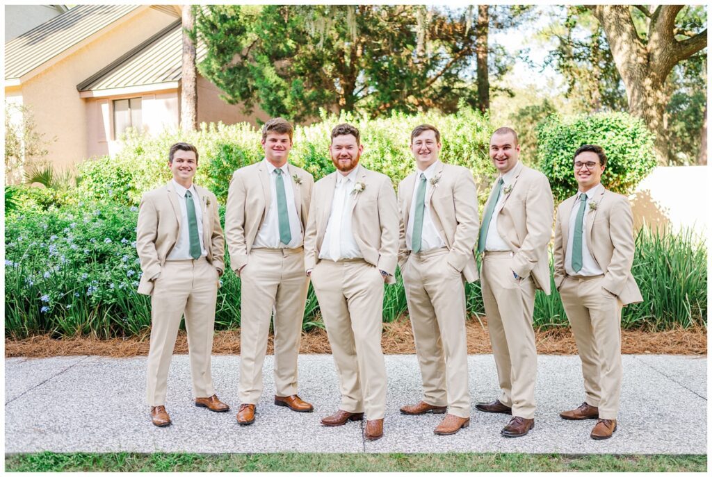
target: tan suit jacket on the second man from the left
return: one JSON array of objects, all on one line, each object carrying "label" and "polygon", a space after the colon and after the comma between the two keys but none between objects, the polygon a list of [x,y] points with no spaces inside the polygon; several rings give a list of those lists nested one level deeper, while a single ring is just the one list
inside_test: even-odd
[{"label": "tan suit jacket on the second man from the left", "polygon": [[[288,164],[302,235],[306,230],[314,178],[304,169]],[[301,183],[295,181],[297,176]],[[225,210],[225,237],[230,267],[235,273],[247,264],[248,255],[262,227],[271,197],[269,171],[264,161],[239,168],[232,176]]]}]

